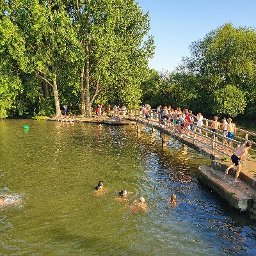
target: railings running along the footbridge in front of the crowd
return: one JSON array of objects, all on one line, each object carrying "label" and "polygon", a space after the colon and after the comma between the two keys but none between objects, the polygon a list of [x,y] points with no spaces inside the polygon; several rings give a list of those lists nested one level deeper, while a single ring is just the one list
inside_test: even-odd
[{"label": "railings running along the footbridge in front of the crowd", "polygon": [[[198,126],[196,122],[188,123],[185,121],[180,121],[178,119],[170,118],[170,116],[166,116],[163,118],[163,114],[157,113],[157,109],[150,109],[150,111],[139,111],[138,109],[128,109],[127,114],[131,118],[135,118],[138,120],[144,120],[151,125],[157,125],[159,127],[163,127],[168,131],[173,131],[180,136],[185,136],[193,141],[194,144],[202,144],[205,147],[212,150],[212,154],[220,154],[221,156],[229,157],[234,153],[234,148],[239,147],[240,145],[246,143],[247,141],[252,142],[253,147],[255,147],[256,143],[256,134],[253,132],[245,131],[243,129],[237,128],[239,131],[239,136],[235,136],[235,139],[227,138],[223,136],[219,132],[213,132],[209,128],[211,128],[212,120],[204,118],[204,124],[202,127]],[[148,114],[146,116],[146,114]],[[193,129],[189,129],[193,125]],[[222,131],[221,131],[222,132]],[[250,139],[249,140],[249,136]],[[220,138],[220,140],[218,140]],[[253,138],[255,141],[252,141]],[[250,154],[255,154],[255,148],[250,150]]]}]

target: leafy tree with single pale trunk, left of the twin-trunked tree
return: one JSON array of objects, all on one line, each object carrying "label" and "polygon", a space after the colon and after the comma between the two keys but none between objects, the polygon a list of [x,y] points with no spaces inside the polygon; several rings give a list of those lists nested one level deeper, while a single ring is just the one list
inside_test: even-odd
[{"label": "leafy tree with single pale trunk, left of the twin-trunked tree", "polygon": [[74,49],[79,46],[72,20],[64,7],[61,1],[54,0],[9,3],[12,22],[25,41],[24,55],[19,57],[26,65],[20,69],[28,74],[34,72],[51,86],[57,116],[61,115],[57,86],[61,61],[74,62],[77,58]]}]

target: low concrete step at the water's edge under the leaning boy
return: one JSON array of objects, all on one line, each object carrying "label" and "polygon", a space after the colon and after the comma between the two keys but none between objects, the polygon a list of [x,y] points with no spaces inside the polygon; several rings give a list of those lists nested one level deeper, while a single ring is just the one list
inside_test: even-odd
[{"label": "low concrete step at the water's edge under the leaning boy", "polygon": [[204,184],[216,191],[236,209],[248,211],[252,207],[255,189],[243,181],[235,183],[233,175],[225,175],[225,172],[211,166],[200,166],[198,176]]}]

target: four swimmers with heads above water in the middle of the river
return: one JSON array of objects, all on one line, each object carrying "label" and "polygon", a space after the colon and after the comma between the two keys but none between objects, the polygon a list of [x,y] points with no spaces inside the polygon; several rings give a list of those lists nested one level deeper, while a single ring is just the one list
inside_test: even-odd
[{"label": "four swimmers with heads above water in the middle of the river", "polygon": [[[102,191],[103,190],[103,181],[100,180],[98,185],[95,187],[95,190],[96,191]],[[132,193],[132,192],[130,192]],[[126,189],[122,189],[119,193],[118,193],[118,199],[124,199],[124,200],[127,200],[127,190]],[[176,202],[176,198],[177,196],[175,194],[173,194],[171,196],[171,198],[168,199],[168,203],[172,206],[175,206],[177,205],[177,202]],[[131,209],[133,211],[136,211],[136,207],[140,207],[141,209],[143,209],[144,211],[147,211],[147,204],[145,202],[145,198],[143,196],[141,196],[138,200],[134,200],[132,202],[132,206],[131,206]]]}]

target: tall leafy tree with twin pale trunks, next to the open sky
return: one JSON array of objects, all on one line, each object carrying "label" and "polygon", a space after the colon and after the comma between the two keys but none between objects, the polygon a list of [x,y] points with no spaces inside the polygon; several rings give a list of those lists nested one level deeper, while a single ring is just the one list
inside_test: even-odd
[{"label": "tall leafy tree with twin pale trunks, next to the open sky", "polygon": [[90,116],[99,94],[138,103],[154,50],[152,37],[145,39],[148,13],[133,0],[70,1],[69,12],[81,45],[81,112]]}]

